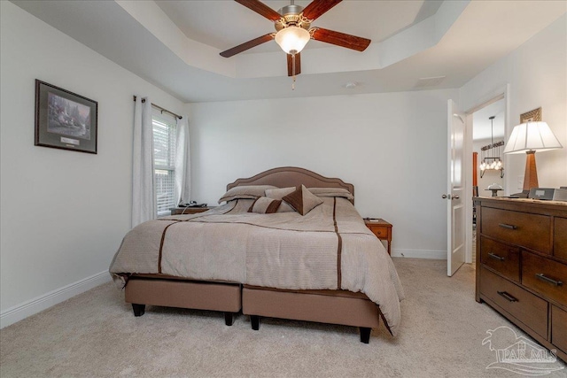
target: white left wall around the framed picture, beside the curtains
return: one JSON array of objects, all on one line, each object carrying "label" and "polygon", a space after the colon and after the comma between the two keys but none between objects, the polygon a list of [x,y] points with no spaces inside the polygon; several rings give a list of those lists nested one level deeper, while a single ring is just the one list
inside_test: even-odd
[{"label": "white left wall around the framed picture, beside the curtains", "polygon": [[[16,5],[1,4],[2,327],[109,279],[130,227],[132,96],[184,104]],[[97,155],[34,146],[35,79],[98,102]]]}]

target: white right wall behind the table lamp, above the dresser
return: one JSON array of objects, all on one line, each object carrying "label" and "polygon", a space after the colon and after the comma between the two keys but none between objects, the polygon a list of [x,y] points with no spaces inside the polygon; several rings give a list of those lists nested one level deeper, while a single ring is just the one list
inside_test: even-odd
[{"label": "white right wall behind the table lamp, above the dresser", "polygon": [[[562,150],[536,153],[540,187],[567,185],[567,15],[525,42],[508,57],[488,67],[460,89],[462,109],[482,103],[486,94],[509,83],[509,130],[520,120],[520,114],[538,107],[542,120],[548,122]],[[507,193],[521,191],[525,155],[509,155],[506,167]],[[518,190],[519,189],[519,190]]]}]

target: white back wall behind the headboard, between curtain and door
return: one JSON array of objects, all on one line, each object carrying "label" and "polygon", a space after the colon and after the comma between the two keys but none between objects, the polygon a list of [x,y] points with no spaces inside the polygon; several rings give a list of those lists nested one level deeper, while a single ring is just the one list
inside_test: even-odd
[{"label": "white back wall behind the headboard, between curtain and door", "polygon": [[352,182],[361,215],[393,224],[396,254],[443,258],[447,99],[456,95],[434,90],[190,104],[193,199],[214,204],[239,177],[301,166]]}]

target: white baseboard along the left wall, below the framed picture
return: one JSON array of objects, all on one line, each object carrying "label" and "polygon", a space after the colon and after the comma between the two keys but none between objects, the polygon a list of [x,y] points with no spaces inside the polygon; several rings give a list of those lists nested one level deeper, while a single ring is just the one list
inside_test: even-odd
[{"label": "white baseboard along the left wall, below the framed picture", "polygon": [[53,305],[57,305],[109,281],[111,281],[111,276],[108,271],[104,271],[81,281],[71,283],[63,288],[50,291],[43,296],[35,297],[21,305],[15,305],[6,311],[0,312],[0,328],[8,327],[16,321],[26,319],[28,316],[42,312]]}]

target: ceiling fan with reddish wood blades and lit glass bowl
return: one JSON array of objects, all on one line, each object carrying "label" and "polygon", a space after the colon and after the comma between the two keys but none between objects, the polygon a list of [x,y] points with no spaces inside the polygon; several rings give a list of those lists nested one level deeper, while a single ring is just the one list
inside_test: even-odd
[{"label": "ceiling fan with reddish wood blades and lit glass bowl", "polygon": [[268,33],[248,42],[239,44],[232,49],[222,51],[221,57],[229,58],[245,50],[252,49],[264,42],[276,39],[277,44],[287,54],[287,74],[293,76],[301,73],[300,51],[303,50],[310,39],[327,42],[347,49],[357,51],[366,50],[370,44],[367,38],[355,35],[346,35],[322,27],[311,27],[311,23],[322,16],[333,6],[342,0],[313,0],[305,9],[300,5],[293,4],[284,6],[278,12],[260,0],[235,0],[253,12],[260,14],[274,22],[276,33]]}]

